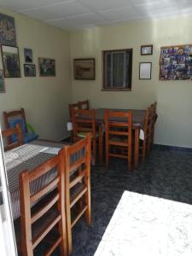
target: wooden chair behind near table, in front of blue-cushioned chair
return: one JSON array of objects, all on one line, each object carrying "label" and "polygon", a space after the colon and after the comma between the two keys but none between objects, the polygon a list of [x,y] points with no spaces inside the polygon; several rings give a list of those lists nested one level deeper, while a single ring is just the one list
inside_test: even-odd
[{"label": "wooden chair behind near table, in front of blue-cushioned chair", "polygon": [[4,151],[20,147],[23,144],[23,134],[20,124],[17,124],[15,128],[9,128],[7,130],[2,131],[2,136],[6,137],[8,142],[9,137],[12,137],[13,135],[17,137],[17,141],[15,143],[8,143],[7,146],[4,147]]}]

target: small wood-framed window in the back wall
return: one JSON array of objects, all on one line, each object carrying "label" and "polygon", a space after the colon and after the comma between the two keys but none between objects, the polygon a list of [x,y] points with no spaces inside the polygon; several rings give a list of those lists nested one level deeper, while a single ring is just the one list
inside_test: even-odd
[{"label": "small wood-framed window in the back wall", "polygon": [[102,90],[131,90],[132,49],[104,50]]}]

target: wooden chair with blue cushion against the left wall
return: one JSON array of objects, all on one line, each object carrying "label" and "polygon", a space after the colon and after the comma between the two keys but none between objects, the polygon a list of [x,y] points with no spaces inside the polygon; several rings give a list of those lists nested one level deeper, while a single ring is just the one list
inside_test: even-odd
[{"label": "wooden chair with blue cushion against the left wall", "polygon": [[[38,135],[32,128],[32,125],[26,124],[26,115],[24,108],[20,110],[14,110],[10,112],[3,112],[4,125],[6,129],[15,128],[17,124],[21,125],[21,130],[23,133],[23,143],[29,143],[38,138]],[[30,131],[30,132],[28,132]],[[8,143],[14,143],[15,137],[9,137]]]}]

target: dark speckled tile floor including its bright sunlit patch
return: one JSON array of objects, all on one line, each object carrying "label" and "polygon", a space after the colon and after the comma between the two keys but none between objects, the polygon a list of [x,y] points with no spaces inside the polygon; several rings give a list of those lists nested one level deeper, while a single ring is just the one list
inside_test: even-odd
[{"label": "dark speckled tile floor including its bright sunlit patch", "polygon": [[[79,221],[79,224],[74,227],[72,256],[94,255],[107,227],[108,230],[106,231],[104,237],[107,237],[108,235],[113,236],[113,234],[111,234],[112,232],[110,231],[111,227],[108,226],[108,224],[125,191],[128,191],[125,192],[125,194],[130,194],[130,192],[134,192],[131,193],[131,195],[137,196],[131,196],[130,202],[128,200],[126,201],[127,207],[125,208],[127,208],[127,212],[123,212],[125,212],[125,214],[127,215],[126,218],[122,217],[121,219],[123,223],[126,222],[126,224],[132,224],[131,219],[134,218],[134,224],[136,227],[135,234],[131,234],[131,236],[129,236],[129,233],[127,233],[126,229],[124,234],[125,236],[128,236],[126,238],[129,240],[130,244],[132,244],[132,249],[134,247],[138,247],[137,241],[145,241],[145,243],[143,244],[143,248],[145,247],[147,250],[147,246],[150,246],[152,248],[152,254],[137,254],[131,252],[130,254],[128,254],[129,251],[127,251],[127,248],[125,254],[119,254],[118,251],[115,250],[112,251],[112,253],[99,254],[99,252],[101,251],[99,251],[100,248],[98,248],[96,256],[192,255],[191,152],[156,147],[152,150],[146,164],[138,166],[134,172],[128,172],[126,170],[126,164],[123,160],[113,160],[111,161],[111,165],[108,171],[106,171],[103,166],[95,166],[91,170],[91,175],[92,224],[90,227],[87,227],[84,223],[84,219],[81,219]],[[139,197],[139,195],[142,196],[143,200],[141,200],[141,197]],[[166,201],[162,199],[166,199]],[[133,204],[134,201],[138,202]],[[139,201],[141,201],[141,204],[139,203]],[[176,204],[174,204],[174,202],[172,201],[176,202]],[[177,204],[177,202],[183,202],[187,205]],[[134,214],[133,210],[130,210],[129,213],[129,204],[130,208],[134,207],[134,212],[136,212],[136,214]],[[175,207],[173,207],[173,205]],[[170,207],[172,208],[171,212],[169,211],[171,209]],[[147,208],[148,211],[146,212]],[[185,215],[185,209],[187,209],[187,215]],[[117,209],[117,212],[118,211],[119,210]],[[142,211],[144,211],[143,214],[141,214]],[[151,214],[149,214],[149,212]],[[122,212],[119,214],[122,214]],[[172,222],[170,214],[172,214],[172,219],[174,219],[174,221]],[[141,230],[137,229],[138,225],[142,221],[142,216],[143,221],[146,222],[146,229],[148,227],[150,227],[151,229],[150,233],[148,233],[147,236],[148,239],[143,238],[144,240],[142,240],[142,235],[139,233],[141,232]],[[184,216],[186,218],[184,218]],[[154,224],[152,225],[150,225],[151,219],[155,220]],[[189,224],[186,225],[186,222]],[[172,231],[171,235],[169,235],[170,233],[168,232],[167,227],[170,227],[171,223],[172,230],[174,231]],[[122,222],[119,224],[124,225],[122,224]],[[189,225],[189,228],[183,230],[183,225],[186,227]],[[132,226],[130,225],[129,228],[131,227]],[[143,230],[146,232],[144,228]],[[115,230],[115,233],[116,232],[117,231]],[[160,234],[162,233],[165,233],[165,236],[164,239],[161,240]],[[156,236],[154,236],[154,234],[156,234]],[[115,239],[116,236],[118,237],[118,233],[114,235],[113,239]],[[189,236],[191,238],[190,241],[188,239]],[[168,241],[174,242],[175,245],[177,244],[178,251],[172,254],[171,249],[165,250]],[[186,241],[186,243],[183,243],[183,241]],[[185,251],[183,251],[183,244],[186,248]],[[101,247],[102,245],[104,245],[103,241],[101,243]],[[157,245],[157,247],[155,245]],[[114,243],[113,247],[116,248]],[[155,250],[156,248],[158,248],[158,252],[163,253],[153,253],[153,250]],[[166,254],[164,254],[165,252]],[[55,255],[59,255],[59,253],[55,253]]]}]

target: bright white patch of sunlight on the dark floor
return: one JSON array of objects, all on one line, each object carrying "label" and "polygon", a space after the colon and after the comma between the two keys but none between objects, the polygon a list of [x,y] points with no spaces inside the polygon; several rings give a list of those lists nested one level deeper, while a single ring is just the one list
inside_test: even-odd
[{"label": "bright white patch of sunlight on the dark floor", "polygon": [[95,256],[191,256],[192,206],[125,191]]}]

